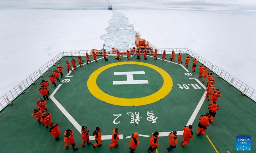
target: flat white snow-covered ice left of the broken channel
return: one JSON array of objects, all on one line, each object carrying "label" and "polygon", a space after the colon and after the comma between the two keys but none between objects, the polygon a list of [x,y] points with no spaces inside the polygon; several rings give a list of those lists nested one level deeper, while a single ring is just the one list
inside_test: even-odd
[{"label": "flat white snow-covered ice left of the broken channel", "polygon": [[63,50],[101,48],[108,10],[0,10],[0,96]]}]

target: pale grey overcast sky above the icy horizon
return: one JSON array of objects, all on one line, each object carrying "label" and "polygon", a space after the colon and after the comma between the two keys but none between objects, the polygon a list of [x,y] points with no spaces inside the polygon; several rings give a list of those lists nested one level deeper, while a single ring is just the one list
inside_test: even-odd
[{"label": "pale grey overcast sky above the icy horizon", "polygon": [[[111,0],[115,8],[256,8],[256,0]],[[107,0],[0,0],[0,9],[106,8]]]}]

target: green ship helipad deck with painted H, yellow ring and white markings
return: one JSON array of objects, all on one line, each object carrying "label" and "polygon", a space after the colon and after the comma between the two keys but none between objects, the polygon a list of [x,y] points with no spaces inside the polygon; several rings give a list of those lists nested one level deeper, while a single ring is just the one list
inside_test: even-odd
[{"label": "green ship helipad deck with painted H, yellow ring and white markings", "polygon": [[[98,59],[101,57],[97,56]],[[50,98],[46,104],[48,112],[52,114],[52,122],[60,126],[60,141],[57,142],[48,133],[49,129],[38,124],[31,115],[37,98],[42,98],[38,92],[40,82],[42,79],[49,81],[49,75],[57,68],[56,65],[17,97],[12,106],[1,111],[1,152],[73,152],[71,146],[68,150],[64,149],[63,134],[67,129],[74,131],[77,153],[129,153],[130,137],[134,132],[140,134],[140,145],[135,152],[147,152],[149,139],[155,131],[160,133],[157,152],[164,153],[169,147],[168,133],[173,130],[178,131],[178,144],[172,150],[175,153],[215,153],[216,150],[234,153],[237,152],[237,135],[250,135],[252,149],[255,148],[256,103],[252,99],[241,95],[235,87],[213,74],[215,88],[219,88],[222,95],[217,100],[220,110],[206,133],[197,136],[198,118],[208,112],[207,106],[210,104],[205,99],[206,83],[198,78],[201,63],[197,64],[196,72],[192,72],[193,60],[186,67],[185,54],[183,64],[170,62],[169,59],[154,60],[152,56],[148,56],[148,60],[140,57],[139,60],[132,56],[128,61],[124,56],[121,56],[122,60],[108,56],[107,62],[101,58],[98,62],[77,66],[68,74],[66,61],[70,62],[71,58],[77,61],[77,57],[60,59],[57,65],[63,67],[64,77],[60,79],[61,82],[56,82],[56,88],[50,83]],[[84,56],[82,58],[86,59]],[[182,147],[182,128],[189,124],[193,125],[195,138]],[[92,143],[95,143],[93,130],[100,127],[102,146],[95,149],[92,144],[82,147],[81,126],[89,129]],[[108,145],[111,144],[114,128],[119,129],[120,140],[118,146],[110,149]]]}]

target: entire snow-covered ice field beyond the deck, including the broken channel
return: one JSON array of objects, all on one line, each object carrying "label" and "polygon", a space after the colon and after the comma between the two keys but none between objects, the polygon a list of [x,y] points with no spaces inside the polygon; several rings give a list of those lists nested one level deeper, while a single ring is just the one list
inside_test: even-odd
[{"label": "entire snow-covered ice field beyond the deck, including the broken channel", "polygon": [[256,89],[256,12],[0,10],[0,96],[63,50],[128,49],[135,33],[158,48],[189,48]]}]

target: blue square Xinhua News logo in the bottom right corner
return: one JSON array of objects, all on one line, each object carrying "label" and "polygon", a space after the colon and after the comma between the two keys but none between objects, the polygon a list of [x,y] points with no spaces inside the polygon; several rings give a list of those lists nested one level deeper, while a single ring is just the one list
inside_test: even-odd
[{"label": "blue square Xinhua News logo in the bottom right corner", "polygon": [[237,135],[236,136],[236,150],[238,150],[238,151],[251,150],[251,136],[250,135]]}]

